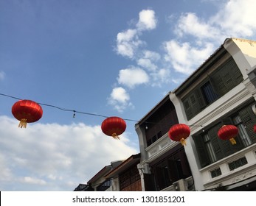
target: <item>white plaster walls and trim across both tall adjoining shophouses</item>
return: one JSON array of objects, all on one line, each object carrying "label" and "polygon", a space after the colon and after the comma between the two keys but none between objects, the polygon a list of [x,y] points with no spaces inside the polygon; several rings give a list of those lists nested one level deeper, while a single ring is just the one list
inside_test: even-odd
[{"label": "white plaster walls and trim across both tall adjoining shophouses", "polygon": [[[190,119],[190,121],[187,121],[181,98],[189,93],[193,87],[196,87],[196,84],[200,83],[202,79],[206,78],[207,74],[201,75],[201,77],[194,83],[193,87],[190,87],[182,94],[181,98],[178,98],[175,93],[170,93],[169,96],[170,101],[173,102],[176,108],[179,123],[190,125],[191,133],[190,137],[186,140],[187,145],[184,146],[184,149],[193,174],[195,188],[198,191],[216,188],[221,184],[233,185],[236,182],[240,182],[241,180],[256,175],[256,144],[219,160],[210,166],[201,168],[196,152],[196,146],[191,138],[191,135],[201,130],[202,127],[212,124],[213,121],[216,121],[226,113],[231,112],[236,107],[243,104],[243,102],[246,102],[252,97],[256,99],[256,42],[232,38],[225,41],[224,48],[232,55],[238,68],[240,68],[241,73],[243,74],[244,81],[241,82],[241,84],[237,85],[220,99],[210,104],[209,107],[205,108],[201,113],[198,113],[198,115]],[[215,67],[210,68],[208,73],[211,73],[218,67],[218,65],[221,65],[221,63],[229,57],[229,54],[225,54],[224,57],[215,64]],[[162,154],[165,154],[165,152],[176,146],[177,143],[171,141],[170,138],[167,137],[167,134],[165,134],[164,137],[146,148],[145,128],[140,128],[139,125],[136,125],[135,128],[139,136],[139,148],[141,152],[141,163],[139,164],[139,168],[142,168],[145,173],[151,173],[148,166],[149,163],[157,157],[160,157]],[[235,169],[235,171],[230,171],[228,163],[240,157],[246,157],[248,163],[241,168]],[[221,168],[221,176],[212,178],[210,171],[218,167]],[[254,178],[256,179],[256,177]],[[143,185],[142,182],[142,191],[145,190]],[[170,190],[173,190],[173,188],[170,188]]]}]

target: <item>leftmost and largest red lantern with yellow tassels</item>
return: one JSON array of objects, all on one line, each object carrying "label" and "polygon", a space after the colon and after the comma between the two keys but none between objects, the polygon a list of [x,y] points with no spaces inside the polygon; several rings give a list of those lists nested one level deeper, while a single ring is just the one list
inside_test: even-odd
[{"label": "leftmost and largest red lantern with yellow tassels", "polygon": [[18,127],[27,127],[27,123],[38,121],[43,116],[42,107],[31,100],[20,100],[15,102],[12,107],[12,113],[20,123]]}]

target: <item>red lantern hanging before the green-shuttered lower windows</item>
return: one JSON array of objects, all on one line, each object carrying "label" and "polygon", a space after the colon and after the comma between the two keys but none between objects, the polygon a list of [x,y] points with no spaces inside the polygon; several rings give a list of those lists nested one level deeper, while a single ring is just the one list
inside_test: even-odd
[{"label": "red lantern hanging before the green-shuttered lower windows", "polygon": [[238,135],[238,127],[234,125],[224,125],[218,130],[218,137],[221,140],[229,140],[232,144],[236,144],[235,136]]}]

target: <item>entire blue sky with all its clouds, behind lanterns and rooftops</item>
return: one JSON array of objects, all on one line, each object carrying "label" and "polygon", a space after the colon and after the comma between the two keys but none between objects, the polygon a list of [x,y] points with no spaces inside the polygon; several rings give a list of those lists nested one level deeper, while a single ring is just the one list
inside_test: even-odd
[{"label": "entire blue sky with all its clouds, behind lanterns and rooftops", "polygon": [[[0,1],[0,93],[139,120],[226,38],[256,40],[256,1]],[[42,106],[18,128],[0,96],[0,190],[72,191],[139,152],[136,121],[117,141],[104,118]]]}]

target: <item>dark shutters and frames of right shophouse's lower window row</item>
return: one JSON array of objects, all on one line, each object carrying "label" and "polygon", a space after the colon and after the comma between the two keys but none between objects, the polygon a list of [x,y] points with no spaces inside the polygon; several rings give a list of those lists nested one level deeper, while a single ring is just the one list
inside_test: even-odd
[{"label": "dark shutters and frames of right shophouse's lower window row", "polygon": [[[220,129],[223,125],[236,125],[234,121],[236,116],[241,116],[241,122],[239,122],[239,124],[243,125],[243,129],[245,129],[247,132],[251,143],[256,143],[256,133],[253,130],[254,123],[256,122],[256,115],[252,111],[252,104],[255,104],[255,99],[250,99],[247,104],[243,104],[245,106],[236,108],[232,111],[232,113],[226,114],[228,116],[222,116],[218,121],[216,121],[216,123],[212,123],[204,129],[201,129],[201,131],[192,135],[193,141],[196,145],[198,159],[201,163],[201,168],[212,164],[210,154],[207,151],[207,145],[203,138],[206,133],[210,132],[210,141],[212,141],[212,147],[214,148],[217,161],[223,159],[224,157],[228,157],[230,154],[234,154],[241,149],[246,148],[246,146],[251,145],[244,144],[240,135],[235,137],[235,145],[232,145],[229,141],[224,141],[218,138],[218,129]],[[241,132],[241,128],[238,128],[238,131]]]}]

